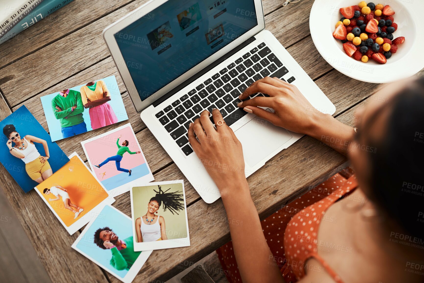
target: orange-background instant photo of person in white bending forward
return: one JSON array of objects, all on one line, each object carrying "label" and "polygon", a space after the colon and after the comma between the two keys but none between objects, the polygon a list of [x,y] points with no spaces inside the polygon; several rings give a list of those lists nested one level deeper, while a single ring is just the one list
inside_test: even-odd
[{"label": "orange-background instant photo of person in white bending forward", "polygon": [[36,192],[72,235],[115,200],[75,152]]}]

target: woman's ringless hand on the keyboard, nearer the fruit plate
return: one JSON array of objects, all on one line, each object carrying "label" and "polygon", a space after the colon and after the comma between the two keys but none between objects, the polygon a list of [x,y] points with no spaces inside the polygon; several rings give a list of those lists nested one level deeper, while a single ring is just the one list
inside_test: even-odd
[{"label": "woman's ringless hand on the keyboard, nearer the fruit plate", "polygon": [[[240,100],[256,92],[270,97],[255,97],[239,103],[238,106],[289,131],[310,134],[315,120],[324,115],[310,104],[296,86],[279,78],[265,77],[255,81],[240,95]],[[275,113],[258,106],[272,108]]]}]

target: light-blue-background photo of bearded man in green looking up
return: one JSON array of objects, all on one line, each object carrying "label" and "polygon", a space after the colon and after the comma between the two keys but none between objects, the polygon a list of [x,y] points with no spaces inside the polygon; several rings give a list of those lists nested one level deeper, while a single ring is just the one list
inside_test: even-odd
[{"label": "light-blue-background photo of bearded man in green looking up", "polygon": [[152,251],[135,252],[131,218],[106,205],[72,248],[125,283],[134,280]]}]

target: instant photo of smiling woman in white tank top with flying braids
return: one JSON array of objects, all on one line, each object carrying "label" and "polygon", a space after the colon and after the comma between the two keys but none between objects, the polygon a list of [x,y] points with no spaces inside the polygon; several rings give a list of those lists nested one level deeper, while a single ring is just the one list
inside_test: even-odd
[{"label": "instant photo of smiling woman in white tank top with flying braids", "polygon": [[131,211],[134,250],[190,246],[183,180],[133,187]]}]

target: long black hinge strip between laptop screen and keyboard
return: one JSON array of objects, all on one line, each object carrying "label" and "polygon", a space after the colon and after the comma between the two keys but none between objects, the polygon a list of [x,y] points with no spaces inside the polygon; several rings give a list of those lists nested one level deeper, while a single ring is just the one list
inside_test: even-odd
[{"label": "long black hinge strip between laptop screen and keyboard", "polygon": [[189,84],[191,84],[193,81],[195,81],[197,78],[203,76],[204,74],[206,74],[207,72],[209,72],[210,70],[212,70],[213,68],[215,68],[216,66],[218,66],[221,62],[224,62],[226,59],[228,59],[230,56],[233,56],[235,53],[237,53],[238,51],[242,50],[245,46],[249,45],[251,42],[254,42],[256,40],[256,38],[254,36],[252,36],[251,38],[249,38],[248,40],[246,40],[245,42],[243,42],[242,44],[238,45],[236,48],[234,48],[233,50],[231,50],[230,52],[226,53],[224,56],[222,56],[220,59],[216,60],[215,62],[213,62],[212,64],[210,64],[209,66],[205,67],[203,70],[201,70],[200,72],[196,73],[194,76],[190,77],[189,79],[187,79],[186,81],[184,81],[182,84],[180,84],[178,87],[175,87],[173,90],[171,90],[170,92],[167,92],[166,94],[164,94],[162,97],[158,98],[156,101],[154,101],[152,103],[152,105],[154,107],[158,106],[159,104],[161,104],[163,101],[167,100],[168,98],[170,98],[172,95],[176,94],[177,92],[179,92],[180,90],[182,90],[184,87],[187,87]]}]

